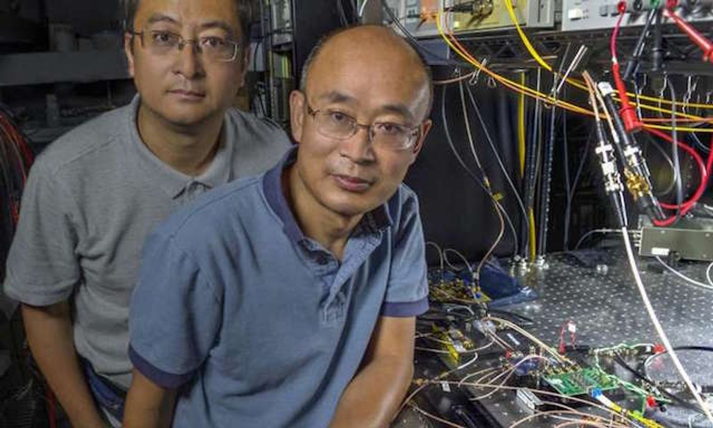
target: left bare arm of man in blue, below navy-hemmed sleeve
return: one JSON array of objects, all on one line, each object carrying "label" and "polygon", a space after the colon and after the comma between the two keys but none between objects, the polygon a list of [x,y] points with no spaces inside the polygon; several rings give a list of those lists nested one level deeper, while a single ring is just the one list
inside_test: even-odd
[{"label": "left bare arm of man in blue, below navy-hemmed sleeve", "polygon": [[153,383],[134,369],[124,406],[124,428],[168,427],[173,419],[175,391]]}]

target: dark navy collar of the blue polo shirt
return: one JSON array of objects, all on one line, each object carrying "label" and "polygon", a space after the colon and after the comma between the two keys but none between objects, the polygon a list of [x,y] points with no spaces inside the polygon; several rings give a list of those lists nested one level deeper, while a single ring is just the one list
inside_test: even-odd
[{"label": "dark navy collar of the blue polo shirt", "polygon": [[[297,161],[298,149],[299,145],[290,148],[289,151],[285,153],[282,161],[279,161],[277,165],[268,170],[262,178],[262,190],[265,193],[267,205],[270,206],[272,211],[279,217],[279,220],[282,221],[284,233],[287,234],[287,238],[289,238],[292,243],[307,240],[307,237],[304,236],[302,230],[300,230],[297,220],[294,219],[292,210],[289,208],[287,200],[284,198],[284,193],[282,192],[282,171]],[[359,225],[357,225],[357,228],[361,227],[371,233],[377,233],[392,224],[389,206],[384,203],[369,213],[366,213],[364,218],[359,222]]]}]

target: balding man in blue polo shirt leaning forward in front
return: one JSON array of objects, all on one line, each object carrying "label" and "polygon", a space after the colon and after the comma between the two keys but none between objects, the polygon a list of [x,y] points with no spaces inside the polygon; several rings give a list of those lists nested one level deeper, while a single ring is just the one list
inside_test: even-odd
[{"label": "balding man in blue polo shirt leaning forward in front", "polygon": [[175,427],[382,427],[403,399],[428,305],[401,181],[431,127],[430,73],[391,30],[361,26],[304,74],[297,148],[148,238],[125,427],[167,421],[176,395]]}]

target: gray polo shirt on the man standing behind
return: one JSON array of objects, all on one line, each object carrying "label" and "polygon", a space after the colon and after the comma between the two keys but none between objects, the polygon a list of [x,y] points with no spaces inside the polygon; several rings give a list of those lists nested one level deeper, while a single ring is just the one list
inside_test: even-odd
[{"label": "gray polo shirt on the man standing behind", "polygon": [[290,145],[274,124],[230,110],[215,159],[190,177],[140,141],[139,101],[79,126],[41,153],[4,283],[9,297],[29,305],[71,298],[77,352],[126,388],[128,305],[145,236],[199,193],[274,165]]}]

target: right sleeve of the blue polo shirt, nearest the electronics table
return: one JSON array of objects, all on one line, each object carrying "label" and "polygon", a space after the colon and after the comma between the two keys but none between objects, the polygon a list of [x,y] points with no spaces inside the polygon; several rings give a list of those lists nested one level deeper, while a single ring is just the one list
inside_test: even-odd
[{"label": "right sleeve of the blue polo shirt, nearest the electronics table", "polygon": [[403,187],[399,191],[405,196],[396,223],[391,272],[381,315],[415,317],[429,309],[426,244],[416,195]]}]

